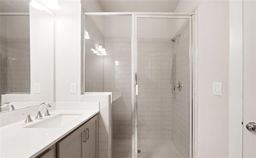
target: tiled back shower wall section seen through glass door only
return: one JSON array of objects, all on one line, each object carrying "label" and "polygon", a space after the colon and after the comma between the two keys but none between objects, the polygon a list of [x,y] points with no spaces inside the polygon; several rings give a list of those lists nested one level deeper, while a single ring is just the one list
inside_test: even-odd
[{"label": "tiled back shower wall section seen through glass door only", "polygon": [[171,38],[138,38],[138,138],[171,138]]}]

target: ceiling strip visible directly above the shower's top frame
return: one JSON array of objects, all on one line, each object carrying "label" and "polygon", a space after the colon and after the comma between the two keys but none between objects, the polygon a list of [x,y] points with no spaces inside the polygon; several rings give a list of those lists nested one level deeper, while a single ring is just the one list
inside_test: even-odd
[{"label": "ceiling strip visible directly above the shower's top frame", "polygon": [[82,0],[86,12],[174,12],[179,2],[180,0]]}]

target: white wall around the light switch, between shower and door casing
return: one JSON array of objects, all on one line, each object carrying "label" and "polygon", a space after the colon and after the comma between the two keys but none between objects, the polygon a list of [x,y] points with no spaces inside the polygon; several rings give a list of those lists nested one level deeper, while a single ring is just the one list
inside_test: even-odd
[{"label": "white wall around the light switch, between shower and door casing", "polygon": [[[198,5],[198,157],[229,156],[229,1],[181,0],[176,12]],[[222,96],[212,83],[222,82]]]}]

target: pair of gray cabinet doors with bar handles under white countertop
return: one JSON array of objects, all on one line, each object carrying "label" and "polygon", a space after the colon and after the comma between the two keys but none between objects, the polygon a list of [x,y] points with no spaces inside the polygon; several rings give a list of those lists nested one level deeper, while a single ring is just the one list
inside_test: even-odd
[{"label": "pair of gray cabinet doors with bar handles under white countertop", "polygon": [[57,142],[58,158],[98,158],[98,115]]}]

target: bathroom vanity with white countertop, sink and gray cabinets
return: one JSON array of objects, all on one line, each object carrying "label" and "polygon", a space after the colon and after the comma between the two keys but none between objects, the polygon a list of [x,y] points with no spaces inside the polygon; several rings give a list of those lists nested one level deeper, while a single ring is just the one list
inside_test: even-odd
[{"label": "bathroom vanity with white countertop, sink and gray cabinets", "polygon": [[[0,128],[0,157],[98,157],[99,110],[55,110]],[[15,150],[15,151],[14,151]]]}]

